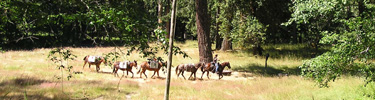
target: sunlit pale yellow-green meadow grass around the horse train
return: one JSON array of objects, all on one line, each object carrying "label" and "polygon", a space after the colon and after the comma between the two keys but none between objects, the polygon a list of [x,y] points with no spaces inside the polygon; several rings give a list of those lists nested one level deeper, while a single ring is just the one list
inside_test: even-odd
[{"label": "sunlit pale yellow-green meadow grass around the horse train", "polygon": [[[191,58],[181,55],[173,57],[173,65],[198,62],[197,41],[176,43]],[[0,56],[0,99],[162,99],[164,96],[165,79],[140,79],[135,72],[135,78],[124,77],[120,80],[112,74],[97,73],[95,67],[82,69],[83,57],[86,55],[102,55],[113,50],[113,47],[101,48],[69,48],[78,58],[70,62],[73,71],[83,72],[74,74],[71,80],[64,78],[64,83],[55,76],[61,75],[56,65],[47,59],[51,49],[35,49],[31,51],[8,51]],[[126,51],[127,48],[122,47]],[[313,100],[313,99],[373,99],[374,84],[363,87],[362,78],[344,76],[332,82],[330,88],[319,88],[308,79],[299,76],[299,65],[311,55],[318,54],[309,50],[308,46],[300,45],[268,45],[265,52],[270,53],[268,68],[264,68],[264,57],[256,57],[249,51],[233,50],[227,52],[214,51],[219,54],[220,62],[229,61],[232,76],[224,76],[217,80],[217,75],[211,79],[205,76],[203,80],[184,80],[177,78],[172,68],[170,99],[239,99],[239,100]],[[301,51],[302,50],[302,51]],[[322,49],[323,52],[327,49]],[[158,56],[167,58],[159,52]],[[139,54],[122,56],[122,60],[146,61]],[[111,71],[110,66],[101,66],[104,71]],[[279,73],[289,76],[279,77]],[[68,75],[64,71],[64,75]],[[147,71],[148,77],[153,73]],[[122,75],[122,71],[119,72]],[[161,77],[165,74],[160,73]],[[185,73],[188,77],[190,73]],[[198,71],[197,77],[200,78]],[[64,86],[64,92],[61,86]]]}]

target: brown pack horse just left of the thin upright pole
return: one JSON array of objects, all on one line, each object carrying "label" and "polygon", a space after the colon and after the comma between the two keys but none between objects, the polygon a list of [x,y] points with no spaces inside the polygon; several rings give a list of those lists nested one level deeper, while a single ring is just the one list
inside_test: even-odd
[{"label": "brown pack horse just left of the thin upright pole", "polygon": [[159,70],[160,70],[160,68],[166,67],[166,66],[167,66],[167,62],[158,62],[158,68],[151,68],[150,65],[148,64],[148,62],[146,61],[146,62],[143,62],[141,64],[141,67],[138,70],[137,74],[139,74],[141,72],[141,74],[139,75],[140,78],[142,78],[142,73],[147,78],[147,75],[146,75],[145,72],[146,72],[146,70],[150,70],[150,71],[154,71],[154,74],[151,76],[151,78],[154,77],[155,73],[158,73],[158,77],[159,77]]}]

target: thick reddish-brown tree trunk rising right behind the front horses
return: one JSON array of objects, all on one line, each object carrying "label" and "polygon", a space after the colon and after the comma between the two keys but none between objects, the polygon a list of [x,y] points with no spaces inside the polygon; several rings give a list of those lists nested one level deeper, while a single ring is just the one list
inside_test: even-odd
[{"label": "thick reddish-brown tree trunk rising right behind the front horses", "polygon": [[206,63],[212,61],[210,15],[208,14],[207,6],[207,0],[195,0],[199,61]]}]

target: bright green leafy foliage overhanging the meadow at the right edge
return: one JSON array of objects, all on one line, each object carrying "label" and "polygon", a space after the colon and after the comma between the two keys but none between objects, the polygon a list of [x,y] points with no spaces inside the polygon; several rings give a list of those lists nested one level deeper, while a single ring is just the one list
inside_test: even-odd
[{"label": "bright green leafy foliage overhanging the meadow at the right edge", "polygon": [[[321,5],[318,8],[311,7],[311,11],[301,12],[296,10],[294,15],[299,14],[298,18],[294,16],[292,20],[299,19],[299,21],[310,23],[309,25],[314,25],[311,23],[312,21],[314,23],[325,23],[315,24],[319,25],[319,27],[309,27],[316,29],[316,31],[312,31],[313,34],[324,36],[320,40],[321,44],[332,45],[329,52],[304,61],[304,64],[300,66],[303,76],[314,79],[321,87],[327,87],[330,81],[335,81],[340,76],[347,74],[364,76],[367,82],[375,81],[375,64],[372,61],[375,59],[373,9],[366,9],[363,13],[356,15],[357,17],[343,17],[339,13],[348,14],[355,12],[352,12],[352,10],[350,12],[341,11],[339,10],[340,7],[350,8],[349,5],[353,2],[310,0],[303,2],[296,1],[295,3],[296,9],[310,9],[306,8],[308,6],[300,7],[301,5]],[[316,12],[316,14],[313,12]],[[307,17],[310,15],[316,16]],[[330,26],[329,24],[337,24],[333,21],[327,21],[325,19],[327,16],[331,16],[330,19],[343,24],[329,28],[320,28],[321,25]],[[305,17],[306,19],[299,17]]]}]

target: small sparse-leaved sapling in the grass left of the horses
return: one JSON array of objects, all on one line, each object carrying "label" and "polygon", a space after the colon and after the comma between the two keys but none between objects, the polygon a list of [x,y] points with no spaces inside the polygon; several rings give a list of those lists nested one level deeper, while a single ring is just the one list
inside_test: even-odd
[{"label": "small sparse-leaved sapling in the grass left of the horses", "polygon": [[66,69],[70,73],[67,76],[68,80],[72,78],[71,70],[73,69],[73,66],[69,65],[69,60],[74,60],[77,56],[74,55],[71,50],[64,48],[52,49],[48,54],[48,58],[57,64],[59,70]]}]

